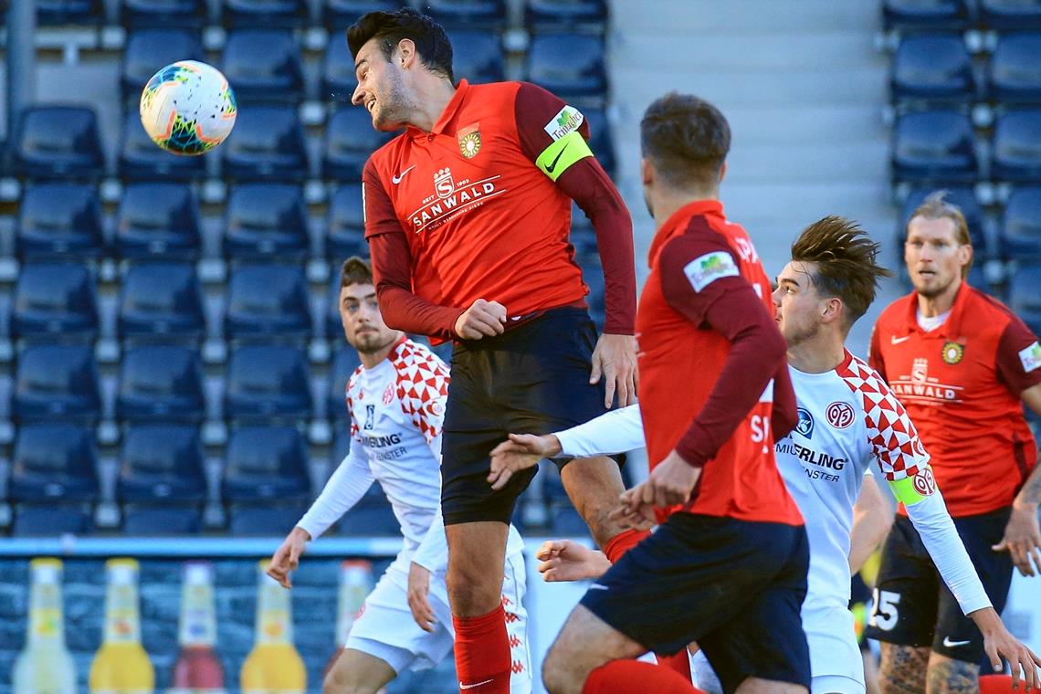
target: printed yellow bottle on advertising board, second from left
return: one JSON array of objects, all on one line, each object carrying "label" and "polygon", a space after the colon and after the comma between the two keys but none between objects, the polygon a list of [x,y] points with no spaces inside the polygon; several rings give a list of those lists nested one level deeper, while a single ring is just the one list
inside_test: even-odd
[{"label": "printed yellow bottle on advertising board, second from left", "polygon": [[152,694],[155,671],[141,645],[137,562],[110,559],[105,564],[105,634],[91,663],[91,694]]}]

